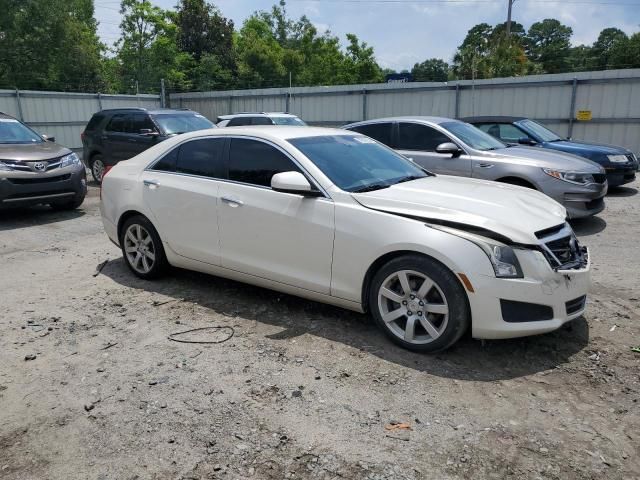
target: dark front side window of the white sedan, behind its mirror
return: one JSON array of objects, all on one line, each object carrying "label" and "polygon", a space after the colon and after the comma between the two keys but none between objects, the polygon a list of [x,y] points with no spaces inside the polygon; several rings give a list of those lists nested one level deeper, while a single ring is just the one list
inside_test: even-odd
[{"label": "dark front side window of the white sedan, behind its mirror", "polygon": [[257,140],[231,139],[229,180],[270,187],[276,173],[292,171],[300,169],[277,148]]}]

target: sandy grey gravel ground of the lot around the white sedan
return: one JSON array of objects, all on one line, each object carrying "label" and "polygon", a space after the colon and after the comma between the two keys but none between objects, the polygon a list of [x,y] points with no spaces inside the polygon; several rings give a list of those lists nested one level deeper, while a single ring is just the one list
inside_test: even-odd
[{"label": "sandy grey gravel ground of the lot around the white sedan", "polygon": [[[574,224],[584,318],[432,356],[268,290],[136,279],[95,187],[0,212],[0,478],[638,479],[639,188]],[[222,343],[168,339],[207,326],[176,338]]]}]

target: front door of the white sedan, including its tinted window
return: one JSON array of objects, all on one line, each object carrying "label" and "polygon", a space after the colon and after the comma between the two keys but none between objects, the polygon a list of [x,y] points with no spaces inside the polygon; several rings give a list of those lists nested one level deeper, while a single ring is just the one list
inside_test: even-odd
[{"label": "front door of the white sedan, including its tinted window", "polygon": [[329,294],[333,201],[272,190],[273,175],[301,169],[263,141],[232,138],[228,171],[219,191],[222,266]]}]

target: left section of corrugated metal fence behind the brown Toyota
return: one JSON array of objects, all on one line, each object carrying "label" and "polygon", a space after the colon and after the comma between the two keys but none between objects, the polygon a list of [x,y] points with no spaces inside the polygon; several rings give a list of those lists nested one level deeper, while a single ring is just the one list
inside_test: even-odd
[{"label": "left section of corrugated metal fence behind the brown Toyota", "polygon": [[0,90],[0,112],[13,115],[40,133],[74,150],[82,149],[80,133],[91,116],[103,108],[160,106],[158,95]]}]

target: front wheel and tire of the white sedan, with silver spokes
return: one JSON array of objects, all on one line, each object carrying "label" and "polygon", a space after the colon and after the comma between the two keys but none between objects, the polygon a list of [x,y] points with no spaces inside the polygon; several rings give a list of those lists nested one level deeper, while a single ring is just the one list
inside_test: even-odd
[{"label": "front wheel and tire of the white sedan, with silver spokes", "polygon": [[404,255],[373,277],[369,309],[382,331],[417,352],[444,350],[470,324],[466,293],[444,265],[421,255]]}]

